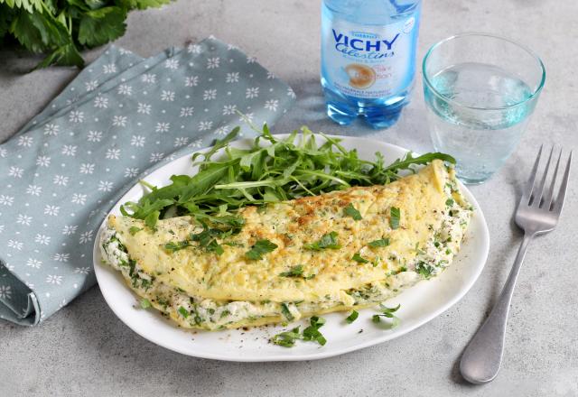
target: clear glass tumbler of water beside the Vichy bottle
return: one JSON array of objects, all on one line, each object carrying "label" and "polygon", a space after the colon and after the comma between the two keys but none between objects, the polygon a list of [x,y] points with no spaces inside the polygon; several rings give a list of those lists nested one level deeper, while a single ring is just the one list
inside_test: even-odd
[{"label": "clear glass tumbler of water beside the Vichy bottle", "polygon": [[455,157],[458,177],[481,183],[516,149],[544,87],[542,60],[486,33],[463,33],[425,54],[424,97],[433,146]]}]

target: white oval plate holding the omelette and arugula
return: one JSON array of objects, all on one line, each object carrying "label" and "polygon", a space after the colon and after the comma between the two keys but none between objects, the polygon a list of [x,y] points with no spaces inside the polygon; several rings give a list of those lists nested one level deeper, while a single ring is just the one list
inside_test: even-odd
[{"label": "white oval plate holding the omelette and arugula", "polygon": [[[379,151],[387,161],[393,162],[407,152],[406,149],[389,143],[356,137],[339,138],[342,139],[343,146],[348,149],[356,148],[359,157],[368,160],[373,160],[375,152]],[[320,141],[322,142],[321,137]],[[248,143],[248,140],[241,140],[234,145],[243,147]],[[152,172],[145,180],[156,186],[164,186],[170,183],[169,178],[173,174],[193,175],[196,171],[196,168],[191,167],[191,154],[187,154]],[[424,325],[452,307],[478,279],[489,251],[488,226],[471,192],[464,186],[461,186],[461,189],[465,198],[476,208],[461,251],[452,265],[438,277],[419,282],[415,287],[386,302],[389,307],[401,304],[401,309],[396,313],[401,319],[400,326],[384,329],[372,323],[371,316],[376,313],[374,309],[360,310],[359,319],[350,325],[344,321],[347,313],[326,314],[323,317],[327,319],[327,323],[321,328],[322,334],[327,338],[325,346],[297,341],[296,346],[287,348],[268,343],[270,337],[288,328],[294,328],[296,324],[290,324],[289,327],[269,326],[248,330],[191,331],[177,328],[154,309],[136,309],[137,297],[126,287],[120,273],[101,262],[98,241],[104,223],[98,231],[94,246],[95,273],[100,291],[119,319],[141,337],[183,355],[249,362],[314,360],[341,355],[400,337]],[[136,184],[117,202],[110,214],[120,215],[121,204],[136,201],[143,193],[142,186]],[[305,324],[306,321],[307,319],[303,319],[300,323]],[[363,329],[363,332],[359,332],[360,329]]]}]

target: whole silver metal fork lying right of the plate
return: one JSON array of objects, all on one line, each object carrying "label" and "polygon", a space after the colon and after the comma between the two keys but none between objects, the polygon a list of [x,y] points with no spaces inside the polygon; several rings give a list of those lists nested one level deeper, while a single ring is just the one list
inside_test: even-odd
[{"label": "whole silver metal fork lying right of the plate", "polygon": [[[570,175],[570,164],[572,162],[572,152],[568,156],[564,171],[564,178],[554,197],[555,182],[562,159],[562,150],[558,155],[555,165],[554,175],[551,177],[549,186],[546,186],[550,163],[554,147],[550,151],[548,162],[542,178],[538,180],[538,165],[542,155],[543,146],[540,147],[532,174],[527,181],[527,186],[523,191],[522,198],[517,204],[516,224],[524,230],[524,239],[517,251],[516,261],[508,275],[508,281],[499,295],[498,303],[489,313],[488,319],[480,327],[476,335],[471,339],[470,345],[466,347],[461,356],[461,375],[471,383],[491,382],[499,371],[499,365],[504,354],[504,342],[506,339],[506,322],[508,321],[508,310],[512,300],[512,294],[516,285],[517,274],[520,271],[522,261],[526,255],[527,246],[536,235],[542,235],[552,231],[562,212],[568,178]],[[537,182],[537,183],[536,183]]]}]

